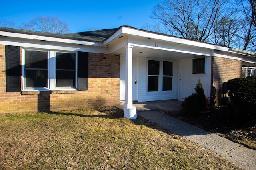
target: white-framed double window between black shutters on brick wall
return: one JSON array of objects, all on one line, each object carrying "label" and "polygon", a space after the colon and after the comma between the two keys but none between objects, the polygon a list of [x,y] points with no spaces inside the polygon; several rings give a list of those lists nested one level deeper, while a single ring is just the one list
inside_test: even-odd
[{"label": "white-framed double window between black shutters on brick wall", "polygon": [[76,89],[77,55],[24,50],[24,89]]}]

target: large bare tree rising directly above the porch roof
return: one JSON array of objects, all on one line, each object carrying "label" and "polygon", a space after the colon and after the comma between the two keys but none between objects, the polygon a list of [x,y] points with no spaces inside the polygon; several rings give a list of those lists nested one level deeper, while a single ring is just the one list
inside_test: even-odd
[{"label": "large bare tree rising directly above the porch roof", "polygon": [[212,35],[224,0],[166,0],[152,10],[151,18],[160,20],[178,37],[206,42]]}]

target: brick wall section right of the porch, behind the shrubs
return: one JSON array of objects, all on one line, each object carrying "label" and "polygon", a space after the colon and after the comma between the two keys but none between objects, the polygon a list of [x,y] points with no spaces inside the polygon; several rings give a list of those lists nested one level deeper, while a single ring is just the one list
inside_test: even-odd
[{"label": "brick wall section right of the porch, behind the shrubs", "polygon": [[[215,106],[222,103],[222,84],[228,82],[233,78],[241,77],[242,61],[235,59],[227,59],[223,57],[212,57],[212,90],[211,103],[214,102]],[[213,101],[214,100],[214,101]]]}]

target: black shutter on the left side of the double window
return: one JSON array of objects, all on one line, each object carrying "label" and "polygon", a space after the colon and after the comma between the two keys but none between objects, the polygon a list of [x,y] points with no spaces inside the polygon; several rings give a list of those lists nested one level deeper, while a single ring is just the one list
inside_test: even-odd
[{"label": "black shutter on the left side of the double window", "polygon": [[6,92],[20,92],[20,47],[5,46],[6,58]]}]

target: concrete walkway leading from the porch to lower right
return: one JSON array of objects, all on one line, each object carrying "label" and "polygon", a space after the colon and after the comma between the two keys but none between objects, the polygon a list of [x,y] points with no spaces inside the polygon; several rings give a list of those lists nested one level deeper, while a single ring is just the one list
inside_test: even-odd
[{"label": "concrete walkway leading from the porch to lower right", "polygon": [[[181,102],[177,100],[134,104],[137,107],[138,116],[144,117],[176,134],[186,137],[190,141],[224,156],[227,160],[246,170],[256,170],[256,150],[248,149],[238,143],[234,143],[214,133],[204,131],[167,114],[178,113],[181,109],[180,105]],[[118,107],[122,109],[123,105],[121,104]]]}]

